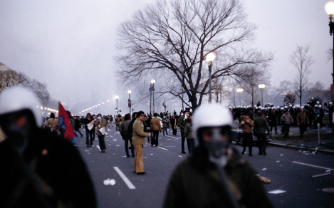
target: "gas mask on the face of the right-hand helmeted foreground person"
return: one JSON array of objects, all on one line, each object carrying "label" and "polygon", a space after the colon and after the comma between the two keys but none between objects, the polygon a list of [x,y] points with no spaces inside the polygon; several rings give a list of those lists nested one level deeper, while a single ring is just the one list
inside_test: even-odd
[{"label": "gas mask on the face of the right-hand helmeted foreground person", "polygon": [[209,152],[209,160],[216,165],[224,167],[229,160],[229,140],[222,140],[219,128],[214,128],[211,140],[204,145]]}]

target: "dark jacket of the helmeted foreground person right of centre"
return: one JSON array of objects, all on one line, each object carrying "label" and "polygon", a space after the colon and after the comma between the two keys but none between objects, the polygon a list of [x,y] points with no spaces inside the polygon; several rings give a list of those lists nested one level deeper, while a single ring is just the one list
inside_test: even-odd
[{"label": "dark jacket of the helmeted foreground person right of centre", "polygon": [[[216,166],[207,151],[197,147],[177,165],[169,181],[164,207],[232,207]],[[224,168],[231,191],[244,207],[273,207],[256,172],[233,150]],[[225,182],[226,183],[226,182]],[[242,206],[240,206],[242,207]]]}]

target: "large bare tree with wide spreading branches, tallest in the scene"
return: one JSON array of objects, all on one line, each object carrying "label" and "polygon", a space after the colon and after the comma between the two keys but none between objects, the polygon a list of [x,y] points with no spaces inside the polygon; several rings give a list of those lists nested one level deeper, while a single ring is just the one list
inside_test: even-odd
[{"label": "large bare tree with wide spreading branches, tallest in the scene", "polygon": [[127,83],[164,73],[182,89],[166,84],[160,93],[176,96],[195,109],[209,93],[204,62],[209,52],[216,54],[212,80],[237,76],[234,71],[244,64],[266,66],[271,61],[272,54],[246,50],[244,43],[251,40],[254,29],[237,0],[157,1],[120,26],[118,72]]}]

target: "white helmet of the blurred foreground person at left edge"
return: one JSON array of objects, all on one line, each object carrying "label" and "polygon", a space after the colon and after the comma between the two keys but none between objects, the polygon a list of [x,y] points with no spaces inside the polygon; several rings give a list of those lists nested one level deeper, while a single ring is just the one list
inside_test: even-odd
[{"label": "white helmet of the blurred foreground person at left edge", "polygon": [[22,86],[7,88],[0,93],[0,115],[28,109],[33,113],[36,124],[41,125],[41,103],[36,94]]}]

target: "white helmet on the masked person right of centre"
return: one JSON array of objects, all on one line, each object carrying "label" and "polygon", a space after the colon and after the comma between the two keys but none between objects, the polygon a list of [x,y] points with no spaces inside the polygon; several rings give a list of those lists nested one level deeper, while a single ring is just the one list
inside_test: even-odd
[{"label": "white helmet on the masked person right of centre", "polygon": [[197,130],[205,127],[232,126],[233,119],[229,108],[216,103],[202,104],[194,112],[192,128],[197,137]]}]

